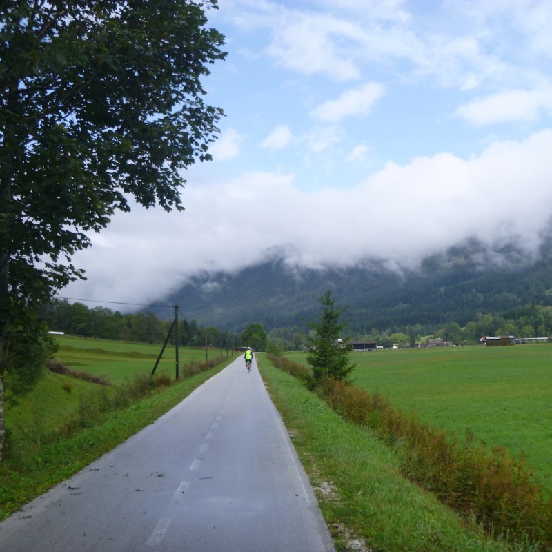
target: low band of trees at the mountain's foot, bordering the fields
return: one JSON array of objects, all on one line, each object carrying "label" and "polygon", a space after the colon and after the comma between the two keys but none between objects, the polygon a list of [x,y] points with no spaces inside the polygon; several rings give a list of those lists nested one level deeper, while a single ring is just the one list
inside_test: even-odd
[{"label": "low band of trees at the mountain's foot, bordering the fields", "polygon": [[[312,313],[311,321],[317,317]],[[515,335],[517,337],[542,337],[551,335],[552,306],[535,303],[526,304],[505,311],[504,313],[480,313],[473,320],[460,325],[455,320],[444,324],[406,324],[393,328],[376,328],[367,331],[355,331],[351,322],[351,309],[342,316],[346,322],[346,334],[351,339],[377,341],[378,344],[390,347],[414,346],[424,344],[431,337],[442,337],[455,344],[475,344],[484,335]],[[76,302],[55,300],[43,309],[43,319],[52,331],[62,331],[83,337],[99,337],[131,342],[161,343],[164,342],[172,319],[161,319],[151,312],[121,314],[110,308],[97,306],[88,308]],[[260,324],[267,328],[266,319],[255,319],[251,324]],[[289,326],[272,326],[266,332],[268,341],[284,349],[300,349],[306,345],[309,329],[304,322]],[[244,328],[239,333],[224,331],[216,326],[198,324],[194,319],[179,319],[178,341],[182,346],[242,346]],[[174,343],[174,335],[170,342]]]}]

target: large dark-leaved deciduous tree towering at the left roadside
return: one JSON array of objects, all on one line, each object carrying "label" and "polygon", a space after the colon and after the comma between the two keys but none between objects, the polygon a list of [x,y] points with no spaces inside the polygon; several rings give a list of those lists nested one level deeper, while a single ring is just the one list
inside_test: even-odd
[{"label": "large dark-leaved deciduous tree towering at the left roadside", "polygon": [[[217,0],[0,3],[0,375],[34,309],[128,201],[181,210],[183,170],[223,115],[201,78],[224,59]],[[1,457],[0,379],[0,457]]]}]

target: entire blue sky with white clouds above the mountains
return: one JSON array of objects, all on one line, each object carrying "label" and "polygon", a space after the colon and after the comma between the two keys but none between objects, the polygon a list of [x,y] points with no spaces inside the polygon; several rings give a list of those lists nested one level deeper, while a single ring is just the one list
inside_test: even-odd
[{"label": "entire blue sky with white clouds above the mountains", "polygon": [[[160,302],[274,255],[415,268],[476,238],[537,250],[552,215],[552,2],[219,0],[225,112],[186,210],[117,213],[60,295]],[[92,305],[91,305],[92,306]],[[117,308],[121,310],[121,308]]]}]

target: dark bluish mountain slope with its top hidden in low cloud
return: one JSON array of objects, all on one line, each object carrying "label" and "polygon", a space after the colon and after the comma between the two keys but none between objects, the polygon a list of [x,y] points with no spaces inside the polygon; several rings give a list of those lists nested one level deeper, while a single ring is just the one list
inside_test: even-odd
[{"label": "dark bluish mountain slope with its top hidden in low cloud", "polygon": [[347,307],[344,319],[354,333],[451,321],[463,326],[477,313],[552,304],[551,244],[543,242],[531,258],[515,244],[491,250],[471,240],[425,257],[416,268],[371,258],[349,267],[300,267],[288,261],[286,250],[273,250],[235,273],[196,275],[166,300],[186,319],[234,332],[251,322],[267,331],[305,328],[319,312],[315,297],[326,289],[337,306]]}]

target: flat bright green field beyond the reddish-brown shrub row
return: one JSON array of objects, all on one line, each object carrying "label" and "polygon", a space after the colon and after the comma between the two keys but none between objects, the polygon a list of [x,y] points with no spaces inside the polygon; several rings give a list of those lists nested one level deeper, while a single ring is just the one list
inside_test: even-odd
[{"label": "flat bright green field beyond the reddish-brown shrub row", "polygon": [[[288,353],[306,365],[306,353]],[[421,422],[524,451],[552,490],[552,344],[451,347],[351,353],[355,386],[377,389]]]}]

